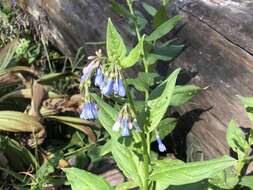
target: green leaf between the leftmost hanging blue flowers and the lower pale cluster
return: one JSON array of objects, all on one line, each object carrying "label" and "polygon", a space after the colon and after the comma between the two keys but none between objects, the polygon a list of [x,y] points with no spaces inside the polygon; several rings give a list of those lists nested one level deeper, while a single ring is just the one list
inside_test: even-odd
[{"label": "green leaf between the leftmost hanging blue flowers and the lower pale cluster", "polygon": [[112,126],[116,121],[118,112],[109,104],[104,102],[104,100],[100,98],[98,95],[92,93],[91,96],[94,98],[99,107],[98,112],[99,122],[103,125],[105,130],[110,134],[112,138],[118,138],[120,134],[112,130]]}]

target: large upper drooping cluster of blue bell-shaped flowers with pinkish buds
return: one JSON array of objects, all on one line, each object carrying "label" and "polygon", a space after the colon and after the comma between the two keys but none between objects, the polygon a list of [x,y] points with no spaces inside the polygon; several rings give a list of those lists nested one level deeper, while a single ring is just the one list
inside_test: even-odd
[{"label": "large upper drooping cluster of blue bell-shaped flowers with pinkish buds", "polygon": [[94,84],[99,87],[101,94],[109,96],[114,94],[115,96],[126,96],[126,90],[122,80],[122,74],[119,66],[116,64],[102,64],[105,58],[102,55],[101,50],[96,51],[95,56],[89,56],[90,63],[83,68],[82,76],[80,79],[80,91],[84,94],[84,104],[82,105],[82,111],[80,118],[82,119],[96,119],[97,107],[90,100],[89,87],[91,85],[91,78],[93,72],[96,70]]}]

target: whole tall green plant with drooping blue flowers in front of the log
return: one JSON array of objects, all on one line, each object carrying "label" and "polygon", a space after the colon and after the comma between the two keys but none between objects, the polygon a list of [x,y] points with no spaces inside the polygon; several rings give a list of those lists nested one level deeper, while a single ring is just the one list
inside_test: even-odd
[{"label": "whole tall green plant with drooping blue flowers in front of the log", "polygon": [[[151,143],[156,141],[159,151],[166,152],[162,139],[173,130],[176,121],[175,118],[166,118],[168,108],[187,102],[200,88],[176,85],[180,69],[159,82],[159,75],[151,67],[161,59],[161,55],[154,54],[150,47],[155,47],[159,39],[174,28],[180,17],[175,16],[158,25],[151,34],[141,36],[142,29],[133,11],[133,1],[128,0],[127,4],[129,12],[125,10],[124,13],[136,18],[132,21],[137,44],[127,51],[123,38],[109,19],[107,56],[99,50],[96,56],[88,57],[91,61],[83,69],[80,83],[83,94],[80,117],[96,119],[105,128],[110,135],[104,145],[110,147],[107,153],[112,154],[127,177],[127,182],[116,189],[138,187],[142,190],[163,190],[173,185],[194,184],[234,165],[236,160],[228,156],[194,163],[159,160],[151,150]],[[167,1],[164,1],[166,4]],[[119,8],[120,5],[116,5]],[[146,9],[152,12],[148,6],[145,4]],[[139,69],[137,77],[130,78],[126,69],[135,65]],[[64,171],[74,190],[84,189],[84,186],[87,189],[114,189],[89,172],[76,168],[65,168]],[[76,179],[76,176],[82,178]]]}]

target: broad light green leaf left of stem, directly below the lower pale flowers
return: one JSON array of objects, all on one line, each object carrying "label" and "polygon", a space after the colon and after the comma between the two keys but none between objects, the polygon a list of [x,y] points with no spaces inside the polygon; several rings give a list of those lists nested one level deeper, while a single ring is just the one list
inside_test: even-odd
[{"label": "broad light green leaf left of stem, directly below the lower pale flowers", "polygon": [[118,167],[126,177],[131,178],[140,187],[144,184],[144,164],[135,152],[120,144],[117,140],[113,142],[112,155]]}]

